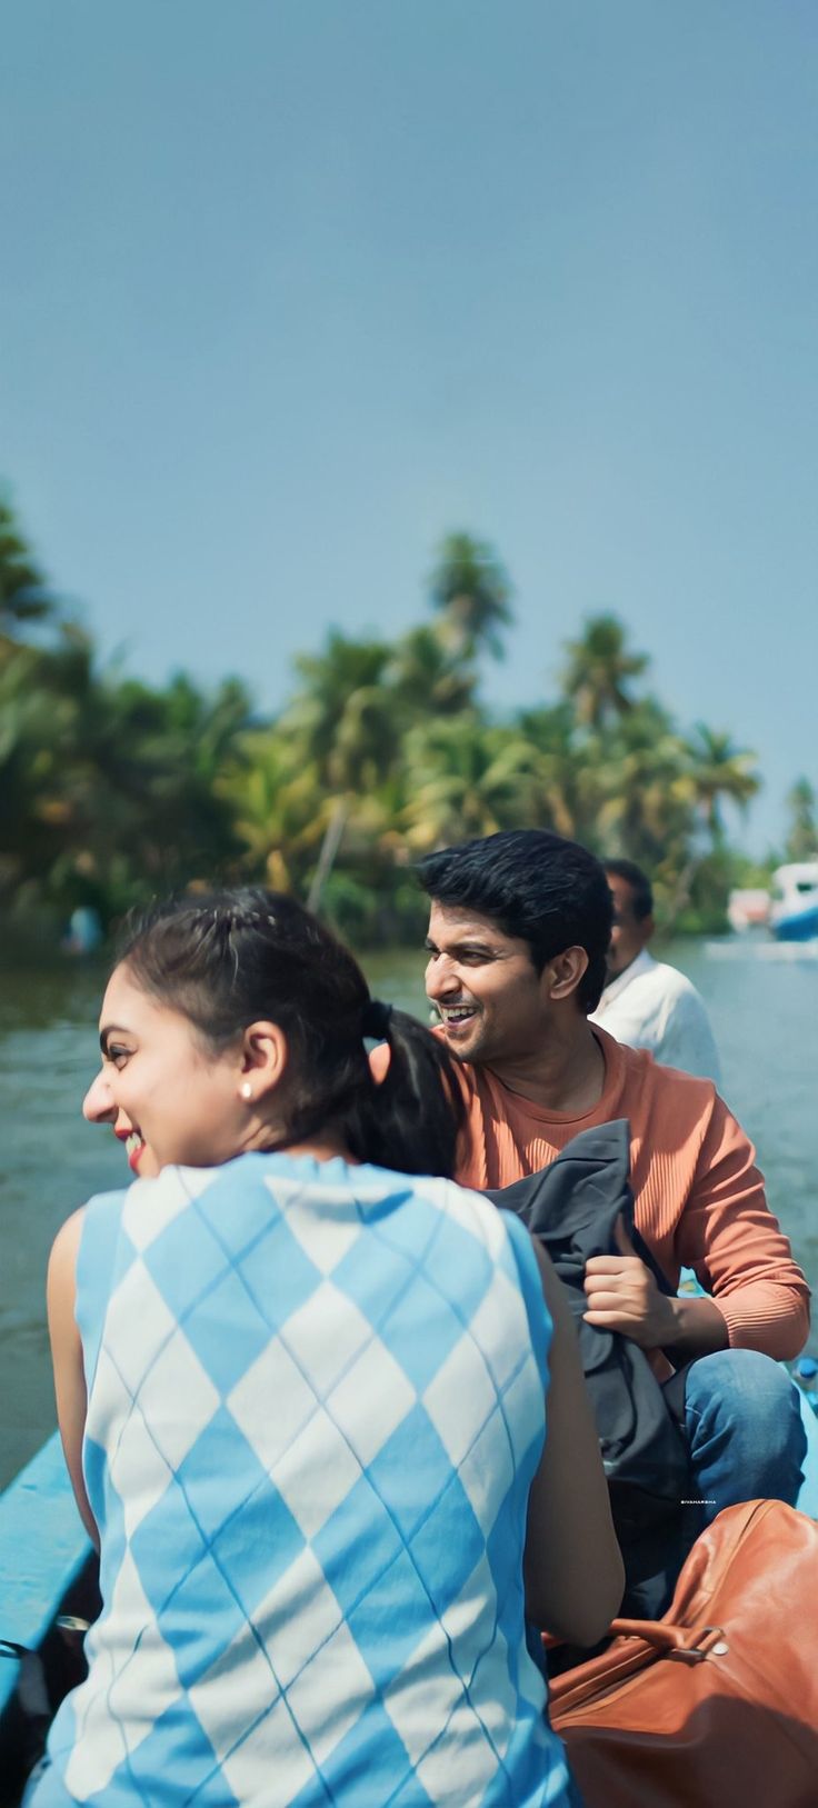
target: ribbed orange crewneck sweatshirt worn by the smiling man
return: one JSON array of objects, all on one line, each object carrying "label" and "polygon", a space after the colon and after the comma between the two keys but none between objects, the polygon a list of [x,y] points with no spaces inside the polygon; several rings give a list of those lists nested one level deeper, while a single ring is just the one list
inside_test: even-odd
[{"label": "ribbed orange crewneck sweatshirt worn by the smiling man", "polygon": [[590,1125],[630,1121],[635,1222],[675,1287],[693,1267],[738,1349],[791,1358],[809,1331],[809,1287],[773,1217],[755,1148],[709,1079],[659,1067],[594,1027],[603,1096],[581,1117],[509,1092],[489,1067],[458,1067],[469,1108],[456,1179],[481,1191],[547,1168]]}]

